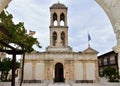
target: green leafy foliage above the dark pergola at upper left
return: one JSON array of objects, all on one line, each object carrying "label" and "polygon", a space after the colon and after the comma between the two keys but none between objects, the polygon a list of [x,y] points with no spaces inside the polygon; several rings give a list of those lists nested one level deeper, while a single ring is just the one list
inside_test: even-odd
[{"label": "green leafy foliage above the dark pergola at upper left", "polygon": [[[0,31],[0,40],[3,40],[8,44],[14,43],[18,45],[18,48],[20,47],[23,50],[26,50],[26,52],[33,51],[33,45],[37,45],[39,48],[41,48],[37,38],[27,34],[24,23],[19,22],[18,24],[14,24],[12,19],[12,14],[8,13],[7,11],[2,11],[0,14],[0,26],[3,27],[6,32],[2,33]],[[0,48],[3,48],[3,46],[0,45]]]}]

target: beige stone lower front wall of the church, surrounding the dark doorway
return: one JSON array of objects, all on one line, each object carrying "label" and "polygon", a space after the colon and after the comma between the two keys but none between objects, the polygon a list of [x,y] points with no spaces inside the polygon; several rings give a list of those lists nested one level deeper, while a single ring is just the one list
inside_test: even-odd
[{"label": "beige stone lower front wall of the church, surrounding the dark doorway", "polygon": [[[88,56],[88,54],[86,55]],[[82,56],[86,57],[86,59],[83,59]],[[76,80],[93,80],[96,82],[98,79],[97,55],[89,55],[90,59],[87,56],[81,53],[27,54],[24,67],[24,81],[53,82],[55,65],[62,63],[66,82]]]}]

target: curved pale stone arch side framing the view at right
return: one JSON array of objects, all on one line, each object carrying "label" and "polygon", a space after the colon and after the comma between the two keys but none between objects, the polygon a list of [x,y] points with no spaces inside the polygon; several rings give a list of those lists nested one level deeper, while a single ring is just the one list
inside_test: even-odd
[{"label": "curved pale stone arch side framing the view at right", "polygon": [[120,74],[120,0],[96,0],[108,15],[114,32],[116,34],[117,45],[113,50],[118,53],[118,67]]}]

